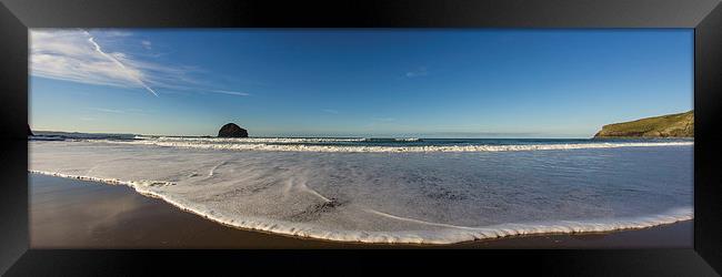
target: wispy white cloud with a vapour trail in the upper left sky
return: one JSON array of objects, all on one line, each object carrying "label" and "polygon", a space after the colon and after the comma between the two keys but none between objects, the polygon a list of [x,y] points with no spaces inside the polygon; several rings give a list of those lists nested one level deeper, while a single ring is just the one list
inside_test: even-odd
[{"label": "wispy white cloud with a vapour trail in the upper left sky", "polygon": [[[126,31],[84,31],[81,29],[33,29],[30,31],[30,73],[34,76],[87,84],[142,89],[159,92],[189,91],[248,96],[235,90],[213,90],[192,78],[202,72],[197,66],[161,64],[141,60],[148,53],[122,51],[136,41],[147,51],[152,43],[138,40]],[[111,51],[109,51],[111,50]]]}]

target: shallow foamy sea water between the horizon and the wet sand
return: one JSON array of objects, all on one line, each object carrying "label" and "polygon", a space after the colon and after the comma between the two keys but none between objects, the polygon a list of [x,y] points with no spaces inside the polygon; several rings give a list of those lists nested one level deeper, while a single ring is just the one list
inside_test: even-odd
[{"label": "shallow foamy sea water between the horizon and the wet sand", "polygon": [[54,137],[29,142],[30,172],[303,237],[449,244],[693,216],[691,140]]}]

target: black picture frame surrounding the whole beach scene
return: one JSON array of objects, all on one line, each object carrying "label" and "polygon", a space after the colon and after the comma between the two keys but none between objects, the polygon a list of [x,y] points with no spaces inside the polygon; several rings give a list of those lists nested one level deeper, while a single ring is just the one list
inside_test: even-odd
[{"label": "black picture frame surrounding the whole beach scene", "polygon": [[[449,270],[550,275],[722,273],[722,6],[719,0],[1,0],[0,273],[131,275],[248,268]],[[40,250],[28,244],[28,28],[693,28],[694,247],[619,250]],[[440,261],[445,257],[443,261]],[[199,263],[198,260],[202,260]],[[364,267],[362,267],[364,266]],[[332,274],[333,271],[327,270]]]}]

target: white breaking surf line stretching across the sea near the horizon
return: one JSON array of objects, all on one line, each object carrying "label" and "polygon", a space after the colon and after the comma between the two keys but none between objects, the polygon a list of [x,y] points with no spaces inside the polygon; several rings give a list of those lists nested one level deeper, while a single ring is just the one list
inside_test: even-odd
[{"label": "white breaking surf line stretching across the sea near the horizon", "polygon": [[[545,150],[585,150],[616,147],[659,147],[689,146],[694,142],[599,142],[563,144],[517,144],[517,145],[419,145],[419,146],[379,146],[379,145],[314,145],[302,143],[318,142],[358,142],[355,138],[200,138],[200,137],[158,137],[137,141],[92,141],[98,143],[139,144],[166,147],[229,150],[229,151],[281,151],[281,152],[349,152],[349,153],[399,153],[399,152],[504,152],[504,151],[545,151]],[[364,140],[364,138],[360,138]],[[281,144],[278,144],[281,143]],[[299,143],[299,144],[284,144]]]}]

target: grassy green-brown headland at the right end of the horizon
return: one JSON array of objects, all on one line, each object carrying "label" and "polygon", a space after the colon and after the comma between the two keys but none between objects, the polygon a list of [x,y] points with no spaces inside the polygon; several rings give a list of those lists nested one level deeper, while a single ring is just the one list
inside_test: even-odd
[{"label": "grassy green-brown headland at the right end of the horizon", "polygon": [[604,125],[594,137],[694,137],[694,111]]}]

